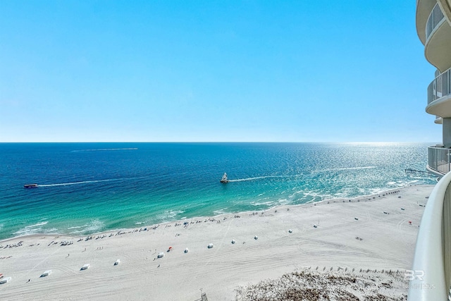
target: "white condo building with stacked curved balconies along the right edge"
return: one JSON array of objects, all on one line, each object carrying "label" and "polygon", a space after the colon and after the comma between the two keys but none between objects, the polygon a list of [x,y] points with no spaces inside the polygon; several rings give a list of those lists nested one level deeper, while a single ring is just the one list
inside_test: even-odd
[{"label": "white condo building with stacked curved balconies along the right edge", "polygon": [[428,171],[440,178],[421,219],[408,300],[451,300],[451,0],[417,0],[416,32],[435,68],[426,112],[443,128],[443,142],[428,148]]}]

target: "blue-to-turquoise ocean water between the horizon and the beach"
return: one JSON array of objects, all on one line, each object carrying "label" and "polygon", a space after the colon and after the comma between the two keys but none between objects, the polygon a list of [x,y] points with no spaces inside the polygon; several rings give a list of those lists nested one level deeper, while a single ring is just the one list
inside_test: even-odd
[{"label": "blue-to-turquoise ocean water between the horizon and the beach", "polygon": [[[427,144],[0,143],[0,239],[87,235],[357,197],[434,178]],[[224,172],[230,183],[221,184]],[[38,188],[25,189],[24,184]]]}]

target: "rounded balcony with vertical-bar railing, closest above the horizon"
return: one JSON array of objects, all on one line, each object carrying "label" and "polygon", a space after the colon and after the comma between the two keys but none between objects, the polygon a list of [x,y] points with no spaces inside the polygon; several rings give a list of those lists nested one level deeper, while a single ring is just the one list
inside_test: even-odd
[{"label": "rounded balcony with vertical-bar railing, closest above the horizon", "polygon": [[426,112],[442,118],[451,117],[451,68],[429,84]]}]

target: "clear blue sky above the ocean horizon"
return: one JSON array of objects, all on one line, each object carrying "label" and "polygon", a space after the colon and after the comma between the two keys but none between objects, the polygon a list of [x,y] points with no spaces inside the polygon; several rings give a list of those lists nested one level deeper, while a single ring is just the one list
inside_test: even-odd
[{"label": "clear blue sky above the ocean horizon", "polygon": [[1,1],[0,142],[441,142],[415,1]]}]

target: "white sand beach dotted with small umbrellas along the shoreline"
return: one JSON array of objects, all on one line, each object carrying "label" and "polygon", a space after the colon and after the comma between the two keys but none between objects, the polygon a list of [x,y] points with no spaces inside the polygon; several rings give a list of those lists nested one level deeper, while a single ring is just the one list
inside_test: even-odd
[{"label": "white sand beach dotted with small umbrellas along the shoreline", "polygon": [[[108,231],[87,241],[51,235],[4,240],[0,274],[12,279],[0,285],[0,300],[196,300],[201,289],[209,300],[234,300],[240,285],[309,267],[410,269],[424,211],[419,204],[426,204],[432,189],[418,185],[352,202],[187,219],[189,226],[179,221],[121,235]],[[156,259],[159,252],[165,256]],[[116,259],[121,262],[115,266]],[[89,269],[80,271],[84,264]],[[49,276],[39,277],[47,270]]]}]

